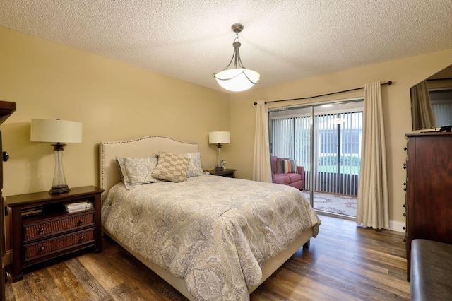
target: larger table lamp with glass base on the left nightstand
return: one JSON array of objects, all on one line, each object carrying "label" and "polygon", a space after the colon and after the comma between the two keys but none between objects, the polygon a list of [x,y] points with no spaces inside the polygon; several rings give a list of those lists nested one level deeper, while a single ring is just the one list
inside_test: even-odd
[{"label": "larger table lamp with glass base on the left nightstand", "polygon": [[55,170],[49,194],[64,194],[70,191],[63,170],[65,143],[82,142],[82,124],[60,119],[31,119],[30,141],[53,142]]}]

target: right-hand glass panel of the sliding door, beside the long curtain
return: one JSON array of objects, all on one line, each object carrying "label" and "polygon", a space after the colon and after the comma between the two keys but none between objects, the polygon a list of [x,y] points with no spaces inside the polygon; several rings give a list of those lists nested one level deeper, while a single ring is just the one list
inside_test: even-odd
[{"label": "right-hand glass panel of the sliding door, beside the long curtain", "polygon": [[[347,107],[347,106],[345,106]],[[356,216],[361,156],[362,102],[347,108],[314,107],[315,174],[313,207],[319,211]]]}]

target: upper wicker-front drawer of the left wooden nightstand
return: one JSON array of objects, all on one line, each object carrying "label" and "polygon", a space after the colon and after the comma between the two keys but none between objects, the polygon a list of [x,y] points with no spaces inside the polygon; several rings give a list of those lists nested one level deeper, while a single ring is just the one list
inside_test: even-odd
[{"label": "upper wicker-front drawer of the left wooden nightstand", "polygon": [[77,216],[69,216],[65,218],[59,218],[50,220],[45,223],[37,223],[33,225],[23,226],[23,240],[34,240],[40,237],[46,237],[49,235],[64,232],[66,230],[73,230],[85,226],[94,225],[94,213],[88,212]]}]

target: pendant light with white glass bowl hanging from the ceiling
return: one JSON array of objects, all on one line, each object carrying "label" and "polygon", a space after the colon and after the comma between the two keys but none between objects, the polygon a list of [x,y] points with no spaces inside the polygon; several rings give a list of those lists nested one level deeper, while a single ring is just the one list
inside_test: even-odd
[{"label": "pendant light with white glass bowl hanging from the ceiling", "polygon": [[[224,70],[214,73],[213,77],[217,80],[218,84],[222,86],[222,88],[239,92],[248,90],[252,86],[256,85],[261,76],[256,71],[246,69],[240,59],[239,48],[242,44],[239,42],[239,33],[242,32],[243,25],[236,23],[231,26],[231,29],[236,34],[235,40],[232,43],[232,46],[234,47],[232,59]],[[234,61],[234,69],[228,69],[232,64],[232,61]]]}]

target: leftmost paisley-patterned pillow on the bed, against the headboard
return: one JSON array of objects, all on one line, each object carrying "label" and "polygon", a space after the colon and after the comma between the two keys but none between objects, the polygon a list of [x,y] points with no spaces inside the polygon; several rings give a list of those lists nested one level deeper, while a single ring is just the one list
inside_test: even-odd
[{"label": "leftmost paisley-patterned pillow on the bed, against the headboard", "polygon": [[157,165],[157,158],[116,158],[123,177],[126,189],[132,189],[136,185],[162,182],[155,179],[152,174]]}]

